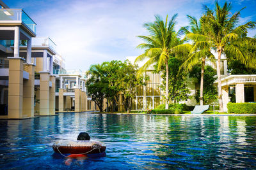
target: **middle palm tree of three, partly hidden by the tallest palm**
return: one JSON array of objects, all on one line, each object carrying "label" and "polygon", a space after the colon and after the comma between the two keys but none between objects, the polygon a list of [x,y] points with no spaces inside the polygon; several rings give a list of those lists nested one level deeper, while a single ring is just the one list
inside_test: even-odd
[{"label": "middle palm tree of three, partly hidden by the tallest palm", "polygon": [[[189,24],[190,24],[190,29],[189,31],[188,27],[182,27],[182,30],[187,34],[200,34],[200,35],[205,35],[205,30],[204,30],[204,24],[205,24],[205,17],[200,18],[200,22],[196,20],[195,17],[191,17],[188,15],[189,19]],[[188,39],[187,36],[185,36],[184,39]],[[209,45],[201,45],[198,46],[197,39],[190,38],[188,40],[193,41],[193,44],[191,45],[190,43],[178,45],[174,47],[174,50],[176,52],[187,52],[188,55],[185,56],[185,61],[180,67],[181,69],[186,69],[187,71],[191,71],[193,67],[196,64],[201,64],[201,80],[200,80],[200,105],[204,105],[204,97],[203,97],[203,92],[204,92],[204,68],[205,68],[205,59],[208,58],[212,60],[214,58],[214,55],[211,53],[211,46]],[[184,57],[182,56],[182,57]]]}]

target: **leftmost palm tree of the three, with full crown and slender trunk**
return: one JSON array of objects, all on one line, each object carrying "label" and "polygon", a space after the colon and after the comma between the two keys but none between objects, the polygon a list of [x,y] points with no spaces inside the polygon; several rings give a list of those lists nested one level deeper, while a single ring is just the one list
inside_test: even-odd
[{"label": "leftmost palm tree of the three, with full crown and slender trunk", "polygon": [[141,67],[138,74],[141,74],[152,64],[157,64],[157,71],[161,67],[166,67],[166,89],[165,89],[165,108],[168,109],[168,59],[170,55],[174,55],[173,47],[180,44],[178,38],[179,32],[175,32],[177,14],[173,15],[168,22],[168,16],[165,22],[159,16],[155,16],[154,22],[144,24],[144,27],[150,32],[149,36],[138,36],[143,39],[145,43],[141,43],[137,48],[145,49],[145,53],[138,56],[135,62],[148,58],[148,61]]}]

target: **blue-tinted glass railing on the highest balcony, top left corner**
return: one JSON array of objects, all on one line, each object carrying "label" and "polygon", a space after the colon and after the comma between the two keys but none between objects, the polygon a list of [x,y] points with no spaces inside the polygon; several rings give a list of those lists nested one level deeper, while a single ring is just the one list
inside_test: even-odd
[{"label": "blue-tinted glass railing on the highest balcony, top left corner", "polygon": [[21,9],[0,9],[0,23],[23,23],[36,32],[35,22]]}]

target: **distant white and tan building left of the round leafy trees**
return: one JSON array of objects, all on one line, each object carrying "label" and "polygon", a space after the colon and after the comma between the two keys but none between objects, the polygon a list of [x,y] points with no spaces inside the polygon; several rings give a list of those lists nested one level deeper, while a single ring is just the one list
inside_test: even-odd
[{"label": "distant white and tan building left of the round leafy trees", "polygon": [[80,69],[61,69],[58,75],[56,92],[56,111],[95,111],[98,106],[86,92],[86,74]]}]

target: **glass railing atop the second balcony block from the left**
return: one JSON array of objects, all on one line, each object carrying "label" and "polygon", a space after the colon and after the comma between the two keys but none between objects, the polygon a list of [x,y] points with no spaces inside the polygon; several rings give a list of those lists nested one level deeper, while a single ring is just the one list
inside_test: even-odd
[{"label": "glass railing atop the second balcony block from the left", "polygon": [[48,46],[56,52],[56,44],[48,37],[35,37],[32,38],[32,46]]}]

